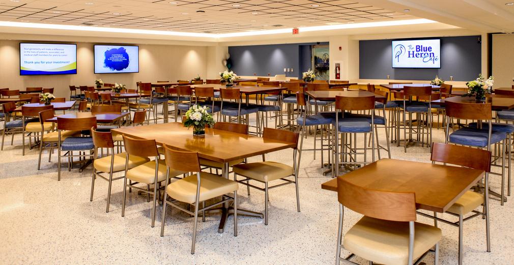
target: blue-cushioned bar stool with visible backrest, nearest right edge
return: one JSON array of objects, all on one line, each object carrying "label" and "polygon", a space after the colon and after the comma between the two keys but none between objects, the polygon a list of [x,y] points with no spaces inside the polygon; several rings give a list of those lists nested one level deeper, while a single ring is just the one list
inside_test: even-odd
[{"label": "blue-cushioned bar stool with visible backrest, nearest right edge", "polygon": [[[467,146],[473,146],[478,148],[486,148],[488,151],[491,149],[491,145],[495,144],[500,146],[498,154],[501,154],[502,159],[502,173],[493,173],[492,175],[501,176],[501,192],[500,194],[490,191],[489,193],[500,197],[501,205],[504,203],[504,190],[505,190],[505,140],[507,134],[505,131],[495,130],[491,122],[492,110],[491,103],[457,103],[451,101],[445,101],[446,105],[446,138],[445,143],[454,143]],[[450,134],[450,124],[453,128],[453,119],[461,120],[478,120],[485,121],[479,122],[478,127],[463,127],[453,131]],[[498,128],[498,127],[497,127]],[[494,163],[497,159],[494,159]],[[495,164],[491,164],[495,165]],[[509,168],[510,169],[510,168]]]}]

